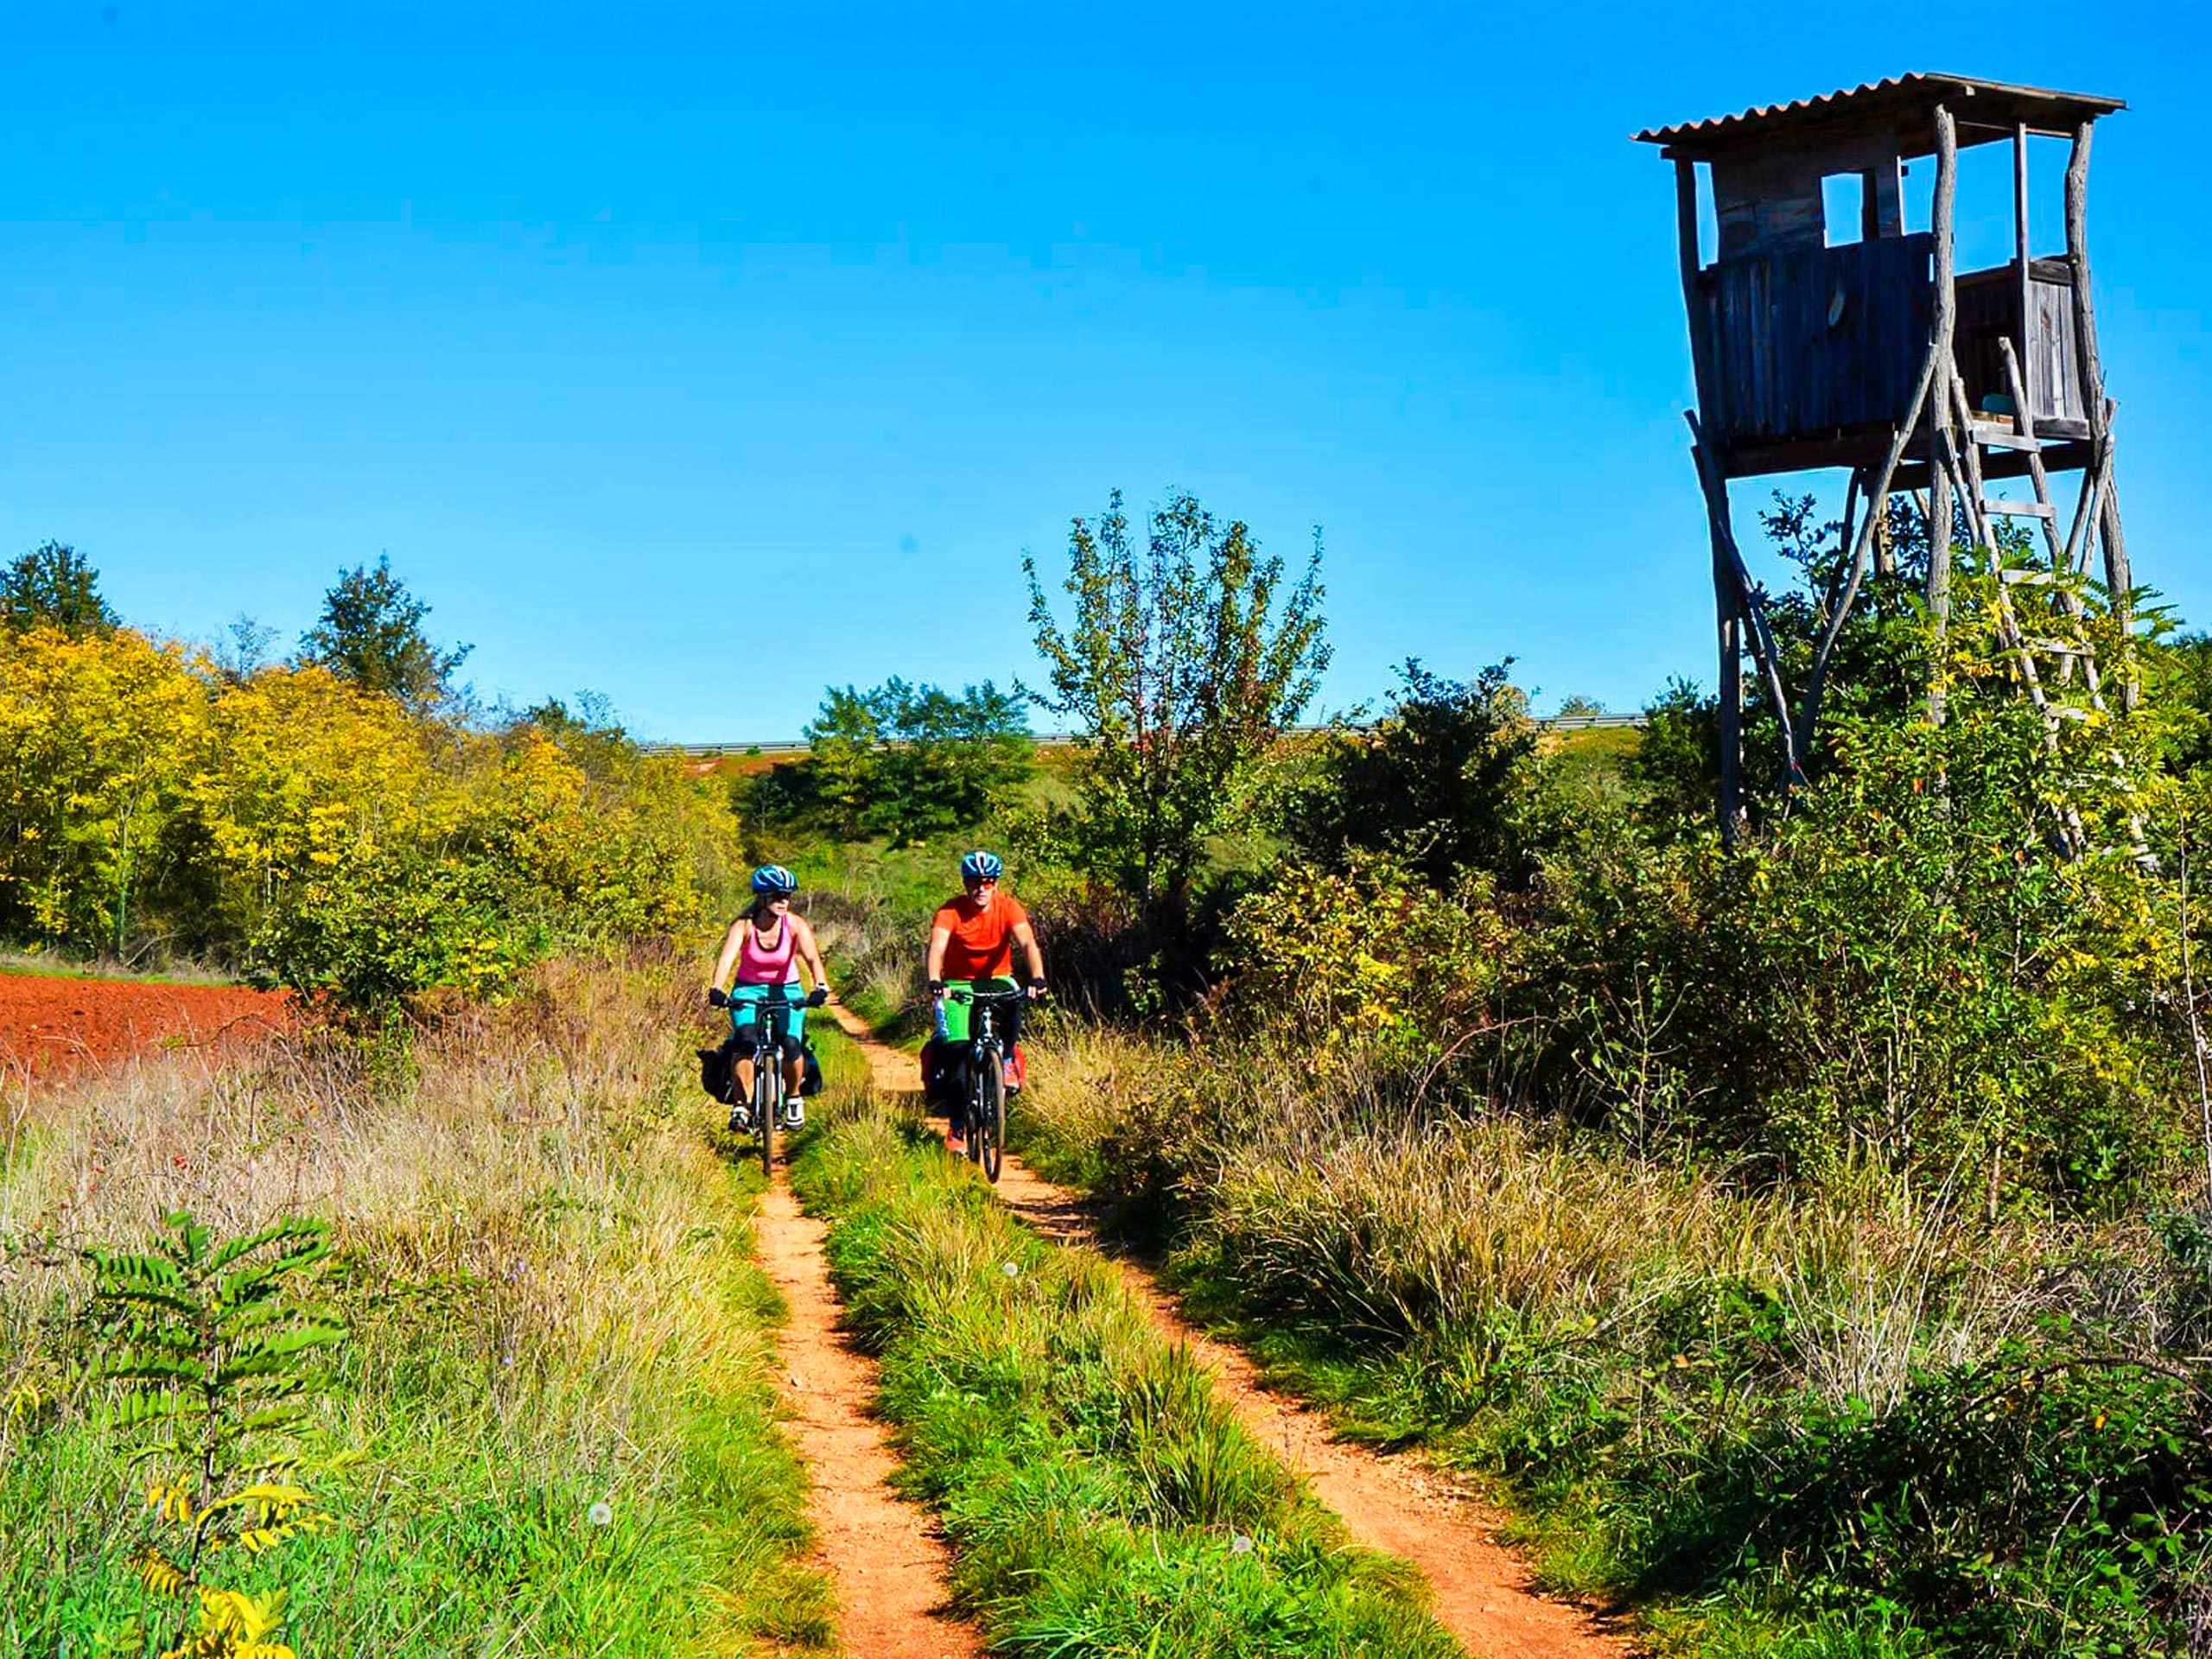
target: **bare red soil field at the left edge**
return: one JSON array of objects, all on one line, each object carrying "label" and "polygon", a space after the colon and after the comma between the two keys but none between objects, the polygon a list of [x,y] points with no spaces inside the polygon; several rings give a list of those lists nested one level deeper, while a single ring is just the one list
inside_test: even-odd
[{"label": "bare red soil field at the left edge", "polygon": [[283,991],[0,973],[0,1071],[66,1077],[161,1046],[252,1042],[292,1029]]}]

